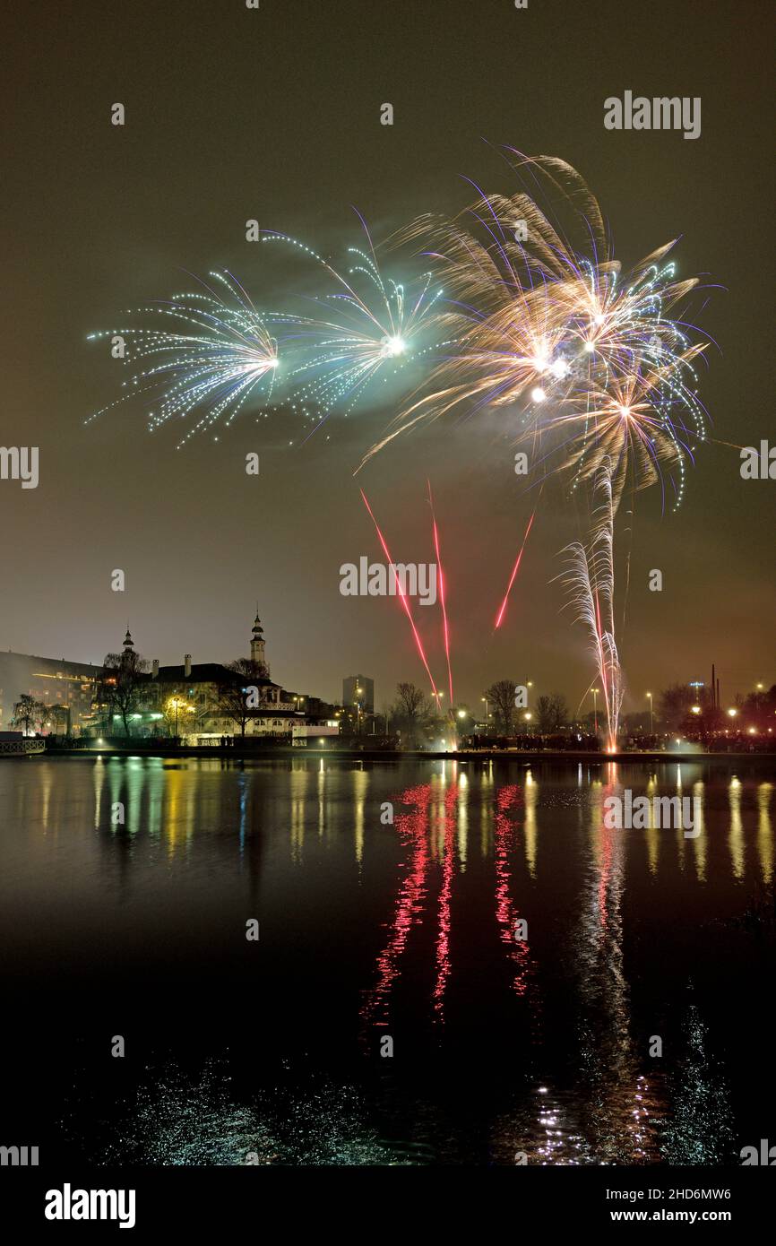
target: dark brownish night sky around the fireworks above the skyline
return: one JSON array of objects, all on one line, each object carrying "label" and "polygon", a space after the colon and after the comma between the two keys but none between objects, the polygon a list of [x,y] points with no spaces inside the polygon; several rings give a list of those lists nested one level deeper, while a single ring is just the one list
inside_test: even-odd
[{"label": "dark brownish night sky around the fireworks above the skyline", "polygon": [[[471,202],[462,174],[518,189],[493,146],[561,156],[597,193],[633,263],[681,237],[680,273],[709,274],[703,326],[720,344],[701,396],[721,442],[774,441],[772,40],[766,0],[212,2],[4,6],[4,402],[0,444],[40,447],[40,486],[0,481],[0,647],[101,660],[130,621],[162,662],[244,654],[259,602],[273,675],[329,698],[343,675],[423,672],[396,601],[344,598],[339,567],[379,557],[367,490],[394,553],[430,561],[435,488],[448,576],[456,697],[532,678],[574,705],[592,670],[572,629],[558,551],[579,535],[559,496],[537,516],[507,623],[498,601],[529,513],[512,452],[488,420],[399,439],[354,480],[394,410],[329,421],[300,446],[290,414],[250,414],[218,442],[176,451],[138,405],[83,426],[120,366],[87,333],[122,309],[229,267],[262,302],[262,255],[244,222],[330,253],[425,211]],[[610,95],[700,96],[703,132],[604,130]],[[127,110],[123,128],[110,107]],[[395,108],[381,126],[380,105]],[[289,442],[294,441],[294,445]],[[244,457],[262,455],[248,477]],[[741,481],[710,442],[678,513],[638,496],[620,657],[627,708],[673,680],[724,699],[774,682],[776,482]],[[623,517],[624,518],[624,517]],[[623,535],[624,540],[624,535]],[[664,573],[663,593],[646,589]],[[112,568],[127,591],[111,592]],[[620,578],[619,587],[623,579]],[[620,592],[620,604],[623,596]],[[619,613],[619,612],[618,612]],[[442,680],[438,613],[417,611]],[[428,616],[426,621],[426,616]]]}]

